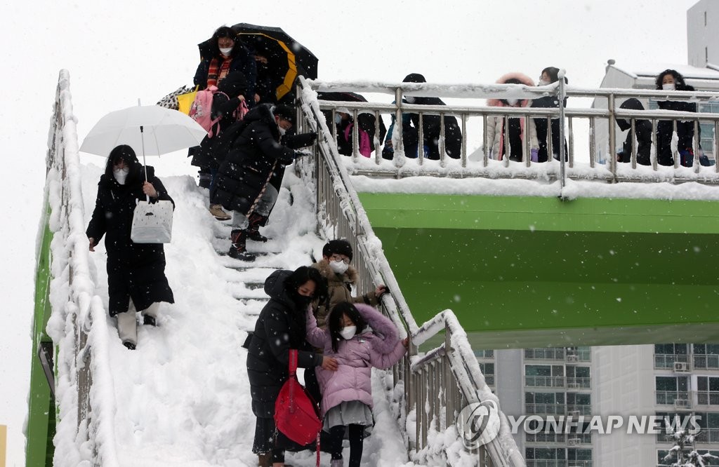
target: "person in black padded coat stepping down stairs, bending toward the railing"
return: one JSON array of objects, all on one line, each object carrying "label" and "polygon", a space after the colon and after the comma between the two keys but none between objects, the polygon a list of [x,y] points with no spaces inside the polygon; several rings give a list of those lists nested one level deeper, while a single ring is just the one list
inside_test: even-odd
[{"label": "person in black padded coat stepping down stairs, bending toward the railing", "polygon": [[292,128],[294,119],[293,108],[262,104],[225,131],[226,138],[232,139],[232,149],[226,157],[216,156],[224,160],[210,200],[234,211],[232,246],[227,252],[232,258],[255,259],[247,253],[246,242],[249,234],[266,221],[277,200],[278,190],[270,180],[301,155],[288,146],[308,146],[317,137],[315,133],[293,135],[293,144],[280,144],[280,137]]}]

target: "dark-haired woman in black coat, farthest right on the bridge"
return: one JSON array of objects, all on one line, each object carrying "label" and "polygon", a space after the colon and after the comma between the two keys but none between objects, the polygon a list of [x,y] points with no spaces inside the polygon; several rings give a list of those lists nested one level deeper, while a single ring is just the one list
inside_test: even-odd
[{"label": "dark-haired woman in black coat, farthest right on the bridge", "polygon": [[[694,88],[684,82],[677,70],[664,70],[656,77],[656,89],[664,91],[694,91]],[[662,110],[679,112],[696,112],[697,104],[682,101],[659,101],[656,103]],[[672,136],[674,124],[672,120],[660,120],[656,124],[656,162],[659,165],[674,165],[672,154]],[[679,142],[677,151],[681,157],[681,164],[691,167],[694,160],[694,121],[677,121],[677,136]]]}]

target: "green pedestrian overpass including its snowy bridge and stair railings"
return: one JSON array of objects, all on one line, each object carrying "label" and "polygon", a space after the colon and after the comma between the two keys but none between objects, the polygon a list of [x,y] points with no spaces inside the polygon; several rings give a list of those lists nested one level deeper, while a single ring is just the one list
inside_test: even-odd
[{"label": "green pedestrian overpass including its snowy bridge and stair railings", "polygon": [[[316,91],[384,93],[398,104],[318,101]],[[392,293],[383,310],[413,341],[412,355],[393,370],[393,381],[395,394],[400,394],[395,417],[403,422],[400,431],[417,463],[456,465],[460,458],[472,458],[479,466],[526,465],[501,412],[495,438],[457,450],[462,439],[454,422],[462,408],[499,403],[474,350],[719,339],[719,318],[713,313],[719,302],[719,166],[636,167],[635,154],[633,163],[618,167],[596,159],[593,137],[579,141],[573,131],[582,121],[591,135],[597,121],[608,121],[615,147],[618,117],[641,114],[655,124],[662,117],[695,119],[697,124],[711,120],[716,128],[719,115],[620,111],[618,103],[605,110],[508,110],[475,104],[490,97],[557,93],[560,102],[562,95],[601,96],[611,103],[630,95],[686,98],[660,91],[299,80],[298,131],[318,131],[320,137],[314,157],[301,159],[294,169],[316,195],[319,234],[349,239],[360,274],[358,288],[388,285]],[[466,98],[468,103],[416,106],[401,103],[405,94]],[[692,98],[716,96],[695,93]],[[395,129],[394,159],[375,156],[380,154],[379,139],[367,159],[359,155],[356,127],[354,154],[340,156],[336,134],[322,111],[331,115],[342,107],[349,108],[355,121],[362,111],[375,119],[390,113],[401,119],[403,111],[453,114],[465,136],[462,157],[408,159],[401,131]],[[523,162],[491,160],[481,148],[470,154],[472,135],[481,135],[487,118],[498,114],[564,119],[566,162],[564,157],[530,162],[526,147]],[[74,125],[69,75],[63,71],[47,157],[46,192],[52,195],[46,196],[47,219],[37,255],[28,466],[52,465],[53,435],[55,445],[76,445],[79,458],[104,466],[117,465],[116,450],[122,448],[108,439],[112,407],[101,391],[93,390],[106,387],[111,378],[104,364],[107,344],[93,338],[98,326],[106,327],[106,312],[94,295],[86,264]],[[587,162],[581,162],[575,149],[587,145]],[[51,241],[65,248],[51,248]],[[62,297],[50,300],[50,283],[63,274],[68,282],[53,289]],[[68,323],[70,339],[47,336],[51,316]],[[68,353],[74,358],[68,359]],[[56,404],[47,379],[53,389],[61,384],[65,397],[74,394],[74,402]],[[443,432],[454,433],[454,445],[438,448],[432,441]]]}]

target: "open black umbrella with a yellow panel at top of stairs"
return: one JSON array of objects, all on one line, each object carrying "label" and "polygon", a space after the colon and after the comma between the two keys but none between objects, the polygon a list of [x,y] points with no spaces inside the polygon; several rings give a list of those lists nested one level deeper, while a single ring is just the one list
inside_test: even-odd
[{"label": "open black umbrella with a yellow panel at top of stairs", "polygon": [[268,73],[275,75],[278,101],[292,91],[297,75],[317,78],[317,57],[279,27],[239,23],[232,29],[244,45],[267,58]]}]

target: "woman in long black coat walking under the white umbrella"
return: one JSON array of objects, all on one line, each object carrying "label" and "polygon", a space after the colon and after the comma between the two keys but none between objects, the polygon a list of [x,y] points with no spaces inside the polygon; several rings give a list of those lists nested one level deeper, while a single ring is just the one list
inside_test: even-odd
[{"label": "woman in long black coat walking under the white umbrella", "polygon": [[135,311],[141,311],[145,324],[155,325],[159,302],[174,303],[173,291],[165,277],[165,251],[162,244],[136,244],[130,239],[132,216],[137,200],[168,200],[175,204],[155,177],[145,170],[132,147],[112,149],[105,173],[97,189],[95,210],[86,234],[90,251],[105,236],[107,288],[110,316],[117,317],[117,330],[129,349],[137,346]]}]

